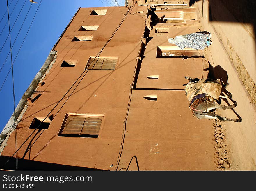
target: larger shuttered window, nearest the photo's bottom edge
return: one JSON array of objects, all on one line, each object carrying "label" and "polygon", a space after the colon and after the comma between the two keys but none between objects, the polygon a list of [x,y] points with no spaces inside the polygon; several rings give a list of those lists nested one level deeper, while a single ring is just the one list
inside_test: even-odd
[{"label": "larger shuttered window, nearest the photo's bottom edge", "polygon": [[66,114],[59,136],[97,138],[102,119],[103,116]]}]

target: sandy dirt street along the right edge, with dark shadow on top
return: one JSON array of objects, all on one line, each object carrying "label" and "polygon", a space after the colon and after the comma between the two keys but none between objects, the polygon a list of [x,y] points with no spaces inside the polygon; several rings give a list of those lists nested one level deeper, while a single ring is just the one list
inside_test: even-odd
[{"label": "sandy dirt street along the right edge, with dark shadow on top", "polygon": [[[232,100],[222,104],[238,105],[234,110],[218,111],[242,123],[223,122],[231,170],[256,170],[256,50],[253,1],[197,1],[202,30],[212,34],[213,44],[205,57],[217,78],[228,83]],[[225,103],[226,102],[226,103]]]}]

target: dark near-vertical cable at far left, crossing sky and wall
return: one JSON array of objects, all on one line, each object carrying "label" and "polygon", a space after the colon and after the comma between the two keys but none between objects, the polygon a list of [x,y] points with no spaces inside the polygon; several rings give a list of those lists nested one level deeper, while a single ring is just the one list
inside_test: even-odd
[{"label": "dark near-vertical cable at far left, crossing sky and wall", "polygon": [[16,132],[16,111],[15,111],[15,91],[14,91],[14,78],[13,78],[13,56],[12,56],[12,43],[11,43],[11,31],[10,31],[10,17],[8,0],[7,1],[7,12],[8,12],[8,24],[9,24],[9,37],[10,37],[10,51],[11,51],[11,64],[12,64],[12,80],[13,80],[13,105],[14,105],[14,131],[15,131],[15,149],[16,149],[16,170],[18,170],[18,153],[17,153],[17,132]]}]

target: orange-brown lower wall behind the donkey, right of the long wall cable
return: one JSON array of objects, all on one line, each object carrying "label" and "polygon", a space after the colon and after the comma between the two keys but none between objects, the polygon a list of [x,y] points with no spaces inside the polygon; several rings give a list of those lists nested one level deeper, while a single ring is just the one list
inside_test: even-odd
[{"label": "orange-brown lower wall behind the donkey, right of the long wall cable", "polygon": [[[156,28],[162,24],[168,32],[157,33]],[[202,63],[200,57],[157,57],[158,46],[171,46],[168,38],[198,31],[200,25],[196,21],[158,23],[151,29],[132,91],[120,168],[127,168],[131,154],[137,156],[142,170],[216,170],[219,167],[212,121],[193,116],[182,86],[188,82],[184,76],[202,76],[202,66],[207,66],[205,61]],[[147,78],[150,75],[158,78]],[[157,95],[157,100],[143,99],[147,95]],[[135,160],[131,161],[129,170],[137,170]]]}]

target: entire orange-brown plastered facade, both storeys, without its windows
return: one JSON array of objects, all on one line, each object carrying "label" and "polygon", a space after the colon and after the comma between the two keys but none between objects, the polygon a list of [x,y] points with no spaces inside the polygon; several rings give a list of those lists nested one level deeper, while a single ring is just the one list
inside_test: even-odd
[{"label": "entire orange-brown plastered facade, both storeys, without its windows", "polygon": [[[182,86],[187,83],[184,76],[201,76],[205,62],[202,63],[201,58],[156,57],[157,46],[170,45],[168,38],[176,33],[197,32],[200,30],[198,22],[186,30],[187,23],[182,26],[171,23],[169,33],[157,34],[152,30],[141,58],[141,70],[136,76],[138,81],[133,87],[145,30],[146,6],[132,9],[100,55],[117,56],[115,70],[89,70],[83,77],[89,57],[100,52],[124,18],[118,7],[107,8],[106,15],[102,16],[91,16],[93,9],[81,8],[57,43],[56,61],[43,79],[45,84],[38,88],[42,95],[33,104],[28,103],[18,125],[18,145],[33,132],[28,128],[33,118],[45,117],[74,86],[50,112],[54,119],[49,128],[36,130],[19,150],[18,157],[71,167],[120,170],[127,168],[136,155],[140,170],[216,170],[212,121],[193,117]],[[121,7],[121,11],[125,13],[127,8]],[[99,28],[79,31],[82,25],[99,25]],[[94,37],[92,41],[72,42],[74,36],[83,34]],[[77,63],[75,67],[60,67],[63,60],[77,60]],[[159,79],[153,82],[147,76],[154,73],[159,74]],[[81,80],[78,85],[76,80]],[[157,94],[157,101],[144,99],[148,94]],[[58,136],[66,113],[104,114],[99,137]],[[14,152],[15,135],[12,133],[2,155],[11,156]],[[135,161],[131,162],[129,170],[138,170]]]}]

